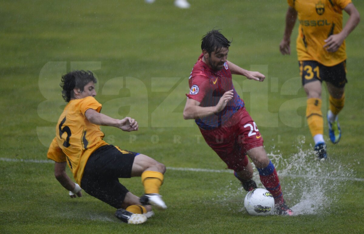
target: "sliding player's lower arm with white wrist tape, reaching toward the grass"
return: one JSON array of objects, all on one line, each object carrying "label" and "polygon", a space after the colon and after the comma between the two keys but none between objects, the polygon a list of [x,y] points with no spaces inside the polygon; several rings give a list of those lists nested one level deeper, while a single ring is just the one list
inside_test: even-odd
[{"label": "sliding player's lower arm with white wrist tape, reaching toward the grass", "polygon": [[74,198],[76,195],[82,197],[81,188],[78,184],[74,183],[66,173],[66,162],[55,162],[54,175],[58,182],[68,191],[70,197]]}]

